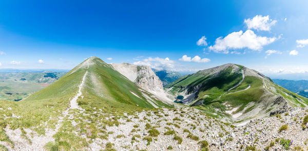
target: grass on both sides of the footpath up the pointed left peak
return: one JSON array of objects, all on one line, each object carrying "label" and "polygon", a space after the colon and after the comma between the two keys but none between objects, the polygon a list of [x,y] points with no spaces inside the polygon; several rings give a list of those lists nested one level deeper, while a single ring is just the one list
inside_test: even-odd
[{"label": "grass on both sides of the footpath up the pointed left peak", "polygon": [[[93,58],[92,58],[93,59]],[[82,89],[83,97],[78,99],[79,105],[90,110],[91,107],[104,109],[108,112],[130,112],[152,108],[145,97],[160,107],[172,107],[142,92],[140,88],[113,70],[101,59],[91,60],[87,69],[87,60],[68,72],[49,87],[38,91],[25,100],[11,102],[0,100],[0,129],[9,126],[31,128],[38,134],[45,134],[45,128],[55,128],[62,112],[69,107],[70,100],[79,90],[79,85],[88,70]],[[93,79],[94,76],[97,79]],[[139,97],[133,95],[138,95]],[[115,110],[117,109],[117,110]]]}]

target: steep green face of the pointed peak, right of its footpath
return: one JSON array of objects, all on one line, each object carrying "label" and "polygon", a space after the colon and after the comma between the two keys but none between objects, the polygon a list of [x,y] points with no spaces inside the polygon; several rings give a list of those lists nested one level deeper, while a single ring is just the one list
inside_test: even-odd
[{"label": "steep green face of the pointed peak, right of its footpath", "polygon": [[[86,80],[86,91],[99,96],[102,101],[118,102],[130,105],[137,105],[139,107],[152,108],[143,94],[150,97],[147,92],[142,92],[135,83],[131,82],[127,78],[124,78],[118,71],[115,71],[109,64],[100,59],[95,59],[94,65],[88,69],[88,79]],[[95,78],[95,80],[94,80]],[[89,80],[90,79],[90,80]],[[84,91],[85,91],[84,90]],[[100,94],[103,92],[103,96]],[[132,93],[138,95],[132,94]],[[157,106],[163,107],[167,104],[161,103],[152,97],[150,97]]]}]

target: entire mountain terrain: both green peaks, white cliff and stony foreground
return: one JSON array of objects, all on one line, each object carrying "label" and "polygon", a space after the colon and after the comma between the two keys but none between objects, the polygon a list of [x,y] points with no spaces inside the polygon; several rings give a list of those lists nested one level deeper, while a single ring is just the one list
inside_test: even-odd
[{"label": "entire mountain terrain: both green peaks, white cliff and stony foreground", "polygon": [[283,150],[286,140],[294,140],[292,149],[304,144],[308,99],[263,74],[228,63],[168,79],[164,88],[160,77],[168,74],[90,57],[26,99],[0,100],[0,148]]}]

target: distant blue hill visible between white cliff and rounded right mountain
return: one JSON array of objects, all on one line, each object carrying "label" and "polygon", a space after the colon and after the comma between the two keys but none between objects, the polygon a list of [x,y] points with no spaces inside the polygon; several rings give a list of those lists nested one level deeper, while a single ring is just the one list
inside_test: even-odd
[{"label": "distant blue hill visible between white cliff and rounded right mountain", "polygon": [[175,80],[183,76],[181,73],[173,72],[173,71],[157,70],[157,69],[152,69],[152,70],[163,82],[163,87],[166,87],[170,83],[174,82]]}]

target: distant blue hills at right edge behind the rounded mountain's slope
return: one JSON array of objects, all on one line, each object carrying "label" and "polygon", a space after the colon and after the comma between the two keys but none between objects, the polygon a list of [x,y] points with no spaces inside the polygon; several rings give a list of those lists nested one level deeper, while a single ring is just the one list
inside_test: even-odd
[{"label": "distant blue hills at right edge behind the rounded mountain's slope", "polygon": [[273,79],[281,87],[308,98],[308,80]]}]

